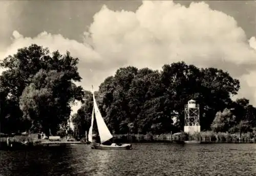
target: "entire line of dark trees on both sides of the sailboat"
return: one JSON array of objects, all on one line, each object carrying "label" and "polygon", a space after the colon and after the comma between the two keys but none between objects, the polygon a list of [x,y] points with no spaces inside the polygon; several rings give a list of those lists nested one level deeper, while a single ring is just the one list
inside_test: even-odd
[{"label": "entire line of dark trees on both sides of the sailboat", "polygon": [[[91,124],[92,94],[81,81],[78,58],[67,52],[50,53],[32,44],[0,61],[0,132],[45,132],[68,129],[71,106],[83,103],[72,117],[75,133],[85,134]],[[159,134],[183,130],[184,105],[200,104],[202,130],[253,131],[256,109],[249,100],[233,102],[238,80],[216,68],[197,68],[184,62],[166,64],[161,71],[119,68],[95,92],[109,129],[116,134]],[[176,117],[176,118],[174,118]],[[176,119],[176,120],[174,120]]]}]

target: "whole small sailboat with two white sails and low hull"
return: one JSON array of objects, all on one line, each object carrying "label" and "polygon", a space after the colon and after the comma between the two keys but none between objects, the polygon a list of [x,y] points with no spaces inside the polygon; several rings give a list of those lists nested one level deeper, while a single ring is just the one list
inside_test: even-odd
[{"label": "whole small sailboat with two white sails and low hull", "polygon": [[[92,93],[93,93],[93,112],[92,112],[91,127],[90,127],[89,133],[88,133],[88,140],[89,140],[89,142],[91,142],[91,148],[92,149],[132,149],[132,144],[117,144],[117,143],[110,142],[110,139],[112,139],[113,136],[110,133],[108,127],[106,126],[106,123],[104,122],[104,119],[101,116],[97,102],[95,100],[94,91],[92,91]],[[95,120],[96,120],[97,127],[98,127],[100,143],[93,142],[94,115],[95,115]],[[104,144],[104,142],[106,142],[106,141],[111,143],[111,145]]]}]

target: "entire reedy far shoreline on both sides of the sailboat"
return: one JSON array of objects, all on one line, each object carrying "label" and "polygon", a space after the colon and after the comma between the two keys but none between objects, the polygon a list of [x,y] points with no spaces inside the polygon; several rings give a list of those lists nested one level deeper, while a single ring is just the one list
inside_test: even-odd
[{"label": "entire reedy far shoreline on both sides of the sailboat", "polygon": [[[166,142],[166,143],[256,143],[256,135],[253,133],[229,134],[229,133],[214,133],[211,131],[200,132],[193,135],[186,133],[176,134],[114,134],[114,142],[118,143],[148,143],[148,142]],[[68,137],[69,139],[69,137]],[[35,146],[49,146],[49,145],[67,145],[86,143],[81,139],[76,141],[67,141],[66,137],[61,138],[60,141],[51,142],[47,139],[38,139],[37,134],[30,135],[14,135],[9,137],[9,143],[13,148],[30,148]],[[0,137],[0,149],[10,148],[7,145],[7,136]]]}]

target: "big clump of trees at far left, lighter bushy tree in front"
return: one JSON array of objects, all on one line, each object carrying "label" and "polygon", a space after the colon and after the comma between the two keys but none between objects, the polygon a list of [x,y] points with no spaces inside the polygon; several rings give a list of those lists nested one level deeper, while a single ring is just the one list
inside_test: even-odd
[{"label": "big clump of trees at far left, lighter bushy tree in front", "polygon": [[81,77],[78,58],[70,53],[50,53],[35,44],[18,49],[0,63],[1,133],[39,131],[46,135],[67,129],[74,100],[82,100],[83,90],[74,82]]}]

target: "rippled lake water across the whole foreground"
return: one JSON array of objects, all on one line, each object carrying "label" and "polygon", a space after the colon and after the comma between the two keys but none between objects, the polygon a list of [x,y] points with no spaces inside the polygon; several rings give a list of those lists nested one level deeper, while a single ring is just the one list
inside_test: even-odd
[{"label": "rippled lake water across the whole foreground", "polygon": [[256,175],[256,144],[133,144],[133,150],[89,145],[0,151],[2,176]]}]

